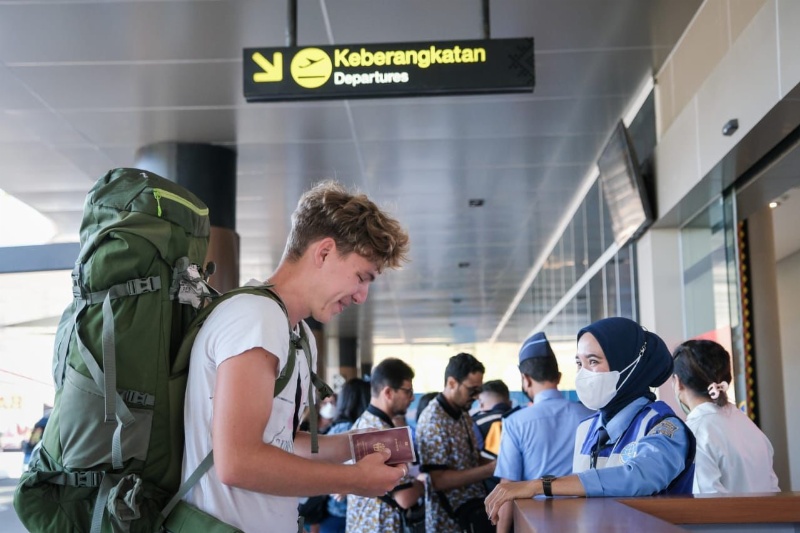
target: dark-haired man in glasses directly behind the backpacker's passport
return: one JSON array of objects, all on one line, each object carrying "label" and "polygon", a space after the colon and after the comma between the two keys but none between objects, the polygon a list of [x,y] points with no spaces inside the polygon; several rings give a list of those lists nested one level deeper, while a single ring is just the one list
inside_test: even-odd
[{"label": "dark-haired man in glasses directly behind the backpacker's passport", "polygon": [[[414,400],[414,370],[404,361],[384,359],[372,369],[371,400],[367,410],[353,424],[353,430],[394,427],[392,418],[404,415]],[[408,466],[406,467],[408,468]],[[399,484],[378,498],[347,497],[347,531],[391,533],[402,531],[400,509],[417,504],[424,493],[422,483],[406,470]],[[398,507],[400,509],[398,509]]]}]

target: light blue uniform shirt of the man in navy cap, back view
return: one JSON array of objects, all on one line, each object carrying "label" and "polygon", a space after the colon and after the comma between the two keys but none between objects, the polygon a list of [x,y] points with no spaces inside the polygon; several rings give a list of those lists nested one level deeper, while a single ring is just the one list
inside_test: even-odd
[{"label": "light blue uniform shirt of the man in navy cap, back view", "polygon": [[540,392],[533,405],[503,419],[500,454],[494,475],[511,481],[544,474],[572,473],[575,430],[594,411],[564,398],[557,389]]}]

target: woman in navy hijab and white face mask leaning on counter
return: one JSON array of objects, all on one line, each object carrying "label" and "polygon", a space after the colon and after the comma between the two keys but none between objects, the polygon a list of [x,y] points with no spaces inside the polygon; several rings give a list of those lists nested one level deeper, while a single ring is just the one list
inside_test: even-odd
[{"label": "woman in navy hijab and white face mask leaning on counter", "polygon": [[694,437],[651,388],[672,374],[672,354],[655,333],[627,318],[578,332],[575,389],[597,413],[578,426],[570,476],[501,483],[486,498],[496,520],[503,503],[545,496],[691,494]]}]

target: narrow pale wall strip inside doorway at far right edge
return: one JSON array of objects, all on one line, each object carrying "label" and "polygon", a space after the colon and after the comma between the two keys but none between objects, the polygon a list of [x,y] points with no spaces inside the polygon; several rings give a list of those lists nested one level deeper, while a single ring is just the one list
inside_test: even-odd
[{"label": "narrow pale wall strip inside doorway at far right edge", "polygon": [[791,487],[782,480],[782,490],[800,490],[800,251],[777,264],[778,309],[783,356],[783,393],[786,435],[789,442]]}]

